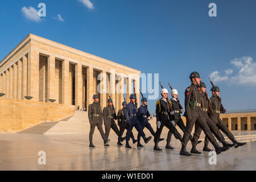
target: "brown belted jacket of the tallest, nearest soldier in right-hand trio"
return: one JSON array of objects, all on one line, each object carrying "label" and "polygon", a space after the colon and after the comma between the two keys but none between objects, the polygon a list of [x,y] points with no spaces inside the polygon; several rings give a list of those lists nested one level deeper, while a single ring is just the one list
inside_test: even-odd
[{"label": "brown belted jacket of the tallest, nearest soldier in right-hand trio", "polygon": [[198,102],[199,104],[201,104],[201,94],[197,89],[197,85],[191,84],[185,90],[185,117],[192,118],[192,116],[198,117],[200,115],[200,106],[195,106],[193,108],[193,102]]}]

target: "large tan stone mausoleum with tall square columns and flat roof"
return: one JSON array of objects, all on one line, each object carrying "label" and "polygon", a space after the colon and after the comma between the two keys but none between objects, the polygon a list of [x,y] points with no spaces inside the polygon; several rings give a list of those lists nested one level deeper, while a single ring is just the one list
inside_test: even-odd
[{"label": "large tan stone mausoleum with tall square columns and flat roof", "polygon": [[[110,93],[116,109],[121,109],[123,94],[127,93],[128,100],[134,84],[139,98],[140,74],[136,69],[29,34],[0,63],[0,93],[5,94],[0,98],[0,133],[68,117],[77,106],[88,108],[94,94],[100,96],[103,108]],[[106,85],[98,93],[100,82]],[[118,92],[117,84],[121,88]]]}]

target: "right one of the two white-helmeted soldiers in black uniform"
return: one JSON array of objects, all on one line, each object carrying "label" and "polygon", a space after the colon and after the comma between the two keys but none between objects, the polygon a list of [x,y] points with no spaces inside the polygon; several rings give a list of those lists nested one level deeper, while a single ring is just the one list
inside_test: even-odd
[{"label": "right one of the two white-helmeted soldiers in black uniform", "polygon": [[[172,111],[173,115],[171,115],[172,124],[174,126],[176,126],[176,125],[179,126],[179,128],[183,131],[183,133],[185,133],[186,127],[185,127],[185,124],[184,124],[184,122],[181,118],[181,114],[184,112],[184,109],[180,108],[180,104],[179,104],[180,101],[179,101],[179,98],[177,98],[178,97],[178,92],[177,92],[176,89],[172,89],[171,94],[172,94],[172,98],[171,98],[170,101],[171,101],[171,106],[172,106],[172,110],[173,110]],[[167,140],[166,140],[166,142],[167,142],[166,148],[167,149],[174,149],[174,147],[172,147],[171,144],[170,144],[172,134],[173,133],[171,131],[168,132],[168,137],[167,137]],[[191,135],[190,139],[192,139],[192,135]],[[201,141],[199,141],[199,143],[200,142]]]}]

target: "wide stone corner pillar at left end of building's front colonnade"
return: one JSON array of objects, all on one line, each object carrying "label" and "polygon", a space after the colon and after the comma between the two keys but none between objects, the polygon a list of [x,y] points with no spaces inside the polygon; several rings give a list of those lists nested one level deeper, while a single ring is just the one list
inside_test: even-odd
[{"label": "wide stone corner pillar at left end of building's front colonnade", "polygon": [[39,101],[39,52],[28,53],[27,94],[32,101]]}]

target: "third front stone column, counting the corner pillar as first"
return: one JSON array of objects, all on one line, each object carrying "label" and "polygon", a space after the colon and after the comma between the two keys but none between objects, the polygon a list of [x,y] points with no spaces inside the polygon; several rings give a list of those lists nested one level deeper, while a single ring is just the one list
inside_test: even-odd
[{"label": "third front stone column, counting the corner pillar as first", "polygon": [[69,93],[69,61],[62,62],[62,102],[65,105],[71,105],[71,94]]}]

